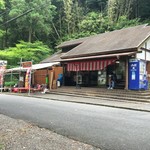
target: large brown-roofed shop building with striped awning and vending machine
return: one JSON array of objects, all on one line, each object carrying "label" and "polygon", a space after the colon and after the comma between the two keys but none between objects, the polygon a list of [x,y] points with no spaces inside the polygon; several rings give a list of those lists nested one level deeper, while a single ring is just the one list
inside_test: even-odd
[{"label": "large brown-roofed shop building with striped awning and vending machine", "polygon": [[150,26],[139,25],[67,41],[63,55],[64,85],[107,87],[116,75],[115,88],[147,89],[150,79]]}]

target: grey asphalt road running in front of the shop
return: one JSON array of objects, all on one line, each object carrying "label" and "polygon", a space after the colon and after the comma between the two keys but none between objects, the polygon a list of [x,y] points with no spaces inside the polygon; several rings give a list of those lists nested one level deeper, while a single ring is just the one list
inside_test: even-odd
[{"label": "grey asphalt road running in front of the shop", "polygon": [[0,113],[102,150],[150,149],[148,112],[0,94]]}]

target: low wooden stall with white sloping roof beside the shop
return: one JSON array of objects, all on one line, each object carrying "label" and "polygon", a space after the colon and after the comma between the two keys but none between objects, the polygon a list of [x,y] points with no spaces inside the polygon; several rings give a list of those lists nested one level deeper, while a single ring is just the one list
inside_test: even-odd
[{"label": "low wooden stall with white sloping roof beside the shop", "polygon": [[[29,81],[29,77],[27,78],[29,69],[31,73],[31,82]],[[53,81],[56,81],[58,78],[57,76],[62,73],[63,69],[59,62],[34,64],[30,68],[11,68],[5,71],[5,83],[15,81],[17,87],[22,88],[27,88],[26,84],[30,84],[31,87],[44,85],[53,88],[56,87],[56,83],[53,83]]]}]

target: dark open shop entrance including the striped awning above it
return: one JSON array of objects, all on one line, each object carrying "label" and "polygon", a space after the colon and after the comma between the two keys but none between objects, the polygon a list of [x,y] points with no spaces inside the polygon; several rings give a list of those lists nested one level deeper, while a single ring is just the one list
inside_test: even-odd
[{"label": "dark open shop entrance including the striped awning above it", "polygon": [[125,87],[125,60],[116,63],[116,59],[68,62],[66,66],[66,86],[107,87],[108,76],[116,74],[115,88]]}]

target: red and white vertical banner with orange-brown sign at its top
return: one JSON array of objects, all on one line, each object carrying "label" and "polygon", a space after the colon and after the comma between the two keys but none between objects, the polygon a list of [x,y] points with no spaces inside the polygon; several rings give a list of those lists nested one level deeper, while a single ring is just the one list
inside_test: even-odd
[{"label": "red and white vertical banner with orange-brown sign at its top", "polygon": [[26,72],[26,76],[25,76],[25,88],[30,89],[32,61],[22,62],[22,67],[27,68],[27,72]]}]

